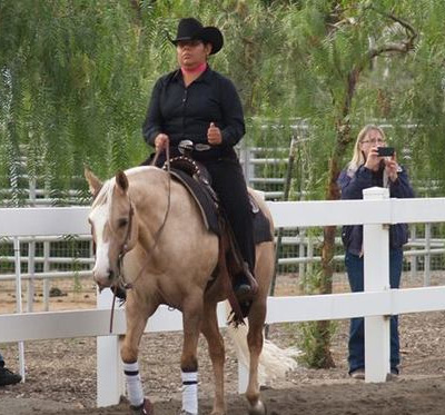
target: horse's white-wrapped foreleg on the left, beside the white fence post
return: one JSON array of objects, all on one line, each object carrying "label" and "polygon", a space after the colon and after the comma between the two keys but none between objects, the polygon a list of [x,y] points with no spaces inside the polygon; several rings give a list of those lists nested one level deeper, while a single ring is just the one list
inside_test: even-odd
[{"label": "horse's white-wrapped foreleg on the left, beside the white fence post", "polygon": [[151,313],[144,313],[146,307],[136,307],[135,304],[127,304],[126,319],[127,332],[120,348],[120,356],[123,362],[123,373],[127,384],[127,394],[134,414],[152,414],[152,406],[144,397],[144,387],[139,374],[138,350],[147,319]]}]

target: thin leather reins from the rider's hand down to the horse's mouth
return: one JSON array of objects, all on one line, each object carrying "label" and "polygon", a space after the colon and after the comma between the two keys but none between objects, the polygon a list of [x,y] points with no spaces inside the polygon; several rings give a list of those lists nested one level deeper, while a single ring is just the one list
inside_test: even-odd
[{"label": "thin leather reins from the rider's hand down to the horse's mouth", "polygon": [[[155,158],[151,162],[151,166],[156,166],[156,162],[159,158],[159,154],[160,151],[156,151]],[[168,214],[170,213],[170,201],[171,201],[171,176],[170,176],[170,149],[167,146],[166,147],[166,161],[167,161],[167,172],[168,172],[168,187],[167,187],[167,209],[166,209],[166,215],[164,216],[164,220],[162,224],[159,226],[158,230],[155,234],[154,237],[154,244],[151,245],[150,249],[147,251],[147,259],[145,261],[145,264],[141,266],[138,275],[136,276],[136,278],[132,280],[132,283],[126,283],[125,280],[125,276],[122,273],[123,269],[123,257],[126,256],[126,254],[129,251],[128,249],[128,241],[130,239],[130,235],[131,235],[131,227],[132,227],[132,219],[135,216],[135,209],[132,207],[132,204],[130,201],[130,211],[129,211],[129,218],[128,218],[128,229],[127,229],[127,235],[126,235],[126,239],[125,243],[122,245],[122,249],[119,253],[119,257],[118,257],[118,269],[119,269],[119,275],[118,275],[118,279],[121,280],[122,286],[125,289],[131,289],[134,288],[135,283],[139,279],[139,277],[142,275],[142,270],[145,269],[145,267],[148,265],[149,259],[151,258],[151,255],[154,254],[156,247],[158,246],[159,243],[159,238],[162,234],[164,227],[166,226],[167,223],[167,218],[168,218]],[[113,290],[113,296],[112,296],[112,303],[111,303],[111,316],[110,316],[110,333],[112,333],[112,323],[113,323],[113,316],[115,316],[115,304],[116,304],[116,293],[117,289]]]}]

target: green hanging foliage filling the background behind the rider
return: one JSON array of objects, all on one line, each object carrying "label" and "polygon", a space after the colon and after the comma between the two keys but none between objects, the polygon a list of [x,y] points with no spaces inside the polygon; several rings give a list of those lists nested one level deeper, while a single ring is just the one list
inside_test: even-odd
[{"label": "green hanging foliage filling the background behind the rider", "polygon": [[[297,186],[308,198],[323,198],[352,68],[366,62],[370,47],[405,36],[389,13],[418,32],[415,49],[365,65],[348,115],[352,134],[369,121],[394,126],[388,132],[412,177],[435,179],[443,189],[441,0],[2,0],[1,187],[10,185],[20,156],[31,177],[60,195],[77,186],[85,164],[106,178],[141,162],[148,148],[140,126],[152,85],[176,67],[168,34],[179,18],[196,16],[225,34],[210,65],[239,89],[249,144],[288,148],[291,135],[308,137]],[[275,128],[267,137],[258,127],[266,123]],[[350,152],[352,145],[343,162]],[[17,191],[16,201],[20,197]]]}]

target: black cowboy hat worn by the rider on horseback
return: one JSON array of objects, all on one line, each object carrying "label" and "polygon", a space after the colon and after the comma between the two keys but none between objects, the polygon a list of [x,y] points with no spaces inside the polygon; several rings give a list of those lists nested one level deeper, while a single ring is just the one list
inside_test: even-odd
[{"label": "black cowboy hat worn by the rider on horseback", "polygon": [[201,22],[194,18],[180,19],[176,39],[169,37],[171,43],[177,45],[181,40],[202,40],[211,45],[210,55],[219,52],[224,45],[222,33],[212,26],[202,27]]}]

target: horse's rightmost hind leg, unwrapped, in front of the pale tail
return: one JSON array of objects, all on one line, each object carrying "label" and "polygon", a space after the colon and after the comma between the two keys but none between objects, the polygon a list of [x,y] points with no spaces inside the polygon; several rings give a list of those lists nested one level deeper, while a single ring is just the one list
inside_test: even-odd
[{"label": "horse's rightmost hind leg, unwrapped, in front of the pale tail", "polygon": [[263,326],[266,318],[265,302],[257,300],[249,312],[249,330],[247,344],[250,354],[249,384],[246,391],[246,398],[249,403],[249,415],[265,415],[266,407],[259,398],[258,364],[263,349]]}]

